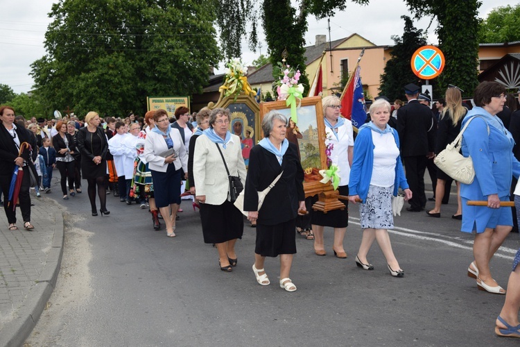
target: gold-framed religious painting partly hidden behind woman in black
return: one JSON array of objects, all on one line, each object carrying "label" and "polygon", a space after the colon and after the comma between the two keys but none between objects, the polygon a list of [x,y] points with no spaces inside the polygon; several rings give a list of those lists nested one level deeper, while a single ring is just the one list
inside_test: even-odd
[{"label": "gold-framed religious painting partly hidden behind woman in black", "polygon": [[296,110],[296,123],[291,119],[291,107],[286,105],[286,101],[273,101],[260,104],[260,124],[263,116],[272,110],[277,110],[289,119],[286,138],[298,147],[300,162],[305,171],[305,183],[321,180],[323,177],[318,171],[327,169],[321,96],[302,99],[300,108]]}]

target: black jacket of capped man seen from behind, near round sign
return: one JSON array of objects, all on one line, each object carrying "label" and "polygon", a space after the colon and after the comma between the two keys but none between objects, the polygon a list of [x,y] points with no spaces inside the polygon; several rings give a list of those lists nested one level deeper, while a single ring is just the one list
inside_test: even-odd
[{"label": "black jacket of capped man seen from behind, near round sign", "polygon": [[435,151],[436,119],[428,106],[412,100],[397,110],[397,132],[403,157]]}]

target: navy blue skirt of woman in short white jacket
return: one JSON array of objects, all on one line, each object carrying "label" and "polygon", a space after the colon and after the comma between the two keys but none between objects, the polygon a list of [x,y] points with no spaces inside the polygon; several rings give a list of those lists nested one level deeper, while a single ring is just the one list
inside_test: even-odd
[{"label": "navy blue skirt of woman in short white jacket", "polygon": [[172,203],[180,204],[180,173],[182,169],[175,170],[175,165],[168,164],[166,172],[150,171],[157,208],[166,208]]}]

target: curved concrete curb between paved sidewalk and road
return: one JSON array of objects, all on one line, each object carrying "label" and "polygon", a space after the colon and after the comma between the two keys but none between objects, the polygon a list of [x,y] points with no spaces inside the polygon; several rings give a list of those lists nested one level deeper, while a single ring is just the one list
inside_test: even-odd
[{"label": "curved concrete curb between paved sidewalk and road", "polygon": [[17,310],[18,316],[2,328],[0,346],[22,346],[40,319],[56,285],[63,255],[64,221],[62,212],[55,213],[55,227],[51,251],[38,283],[28,291],[27,298]]}]

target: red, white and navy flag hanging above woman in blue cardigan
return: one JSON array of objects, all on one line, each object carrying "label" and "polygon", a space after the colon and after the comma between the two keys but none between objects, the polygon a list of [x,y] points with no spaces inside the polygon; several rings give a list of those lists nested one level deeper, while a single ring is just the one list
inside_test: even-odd
[{"label": "red, white and navy flag hanging above woman in blue cardigan", "polygon": [[367,119],[365,111],[365,94],[361,83],[361,67],[358,65],[354,71],[354,77],[347,84],[341,99],[341,113],[343,117],[350,119],[352,125],[359,128]]}]

